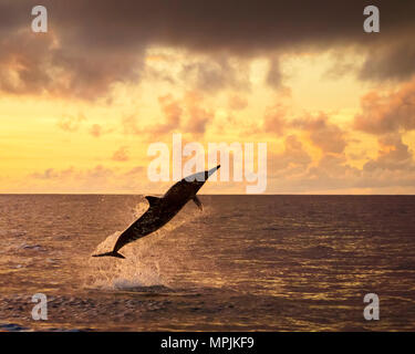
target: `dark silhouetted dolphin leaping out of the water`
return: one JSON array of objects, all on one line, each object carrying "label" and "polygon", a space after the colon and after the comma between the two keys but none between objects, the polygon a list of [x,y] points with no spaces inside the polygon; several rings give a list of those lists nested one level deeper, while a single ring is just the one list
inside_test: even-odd
[{"label": "dark silhouetted dolphin leaping out of the water", "polygon": [[133,222],[116,240],[114,249],[111,252],[93,254],[92,257],[117,257],[125,258],[118,253],[118,250],[125,244],[141,239],[165,226],[177,212],[189,201],[193,200],[203,210],[200,200],[196,194],[199,191],[206,180],[212,175],[220,165],[201,173],[190,175],[175,184],[162,197],[145,197],[149,207],[135,222]]}]

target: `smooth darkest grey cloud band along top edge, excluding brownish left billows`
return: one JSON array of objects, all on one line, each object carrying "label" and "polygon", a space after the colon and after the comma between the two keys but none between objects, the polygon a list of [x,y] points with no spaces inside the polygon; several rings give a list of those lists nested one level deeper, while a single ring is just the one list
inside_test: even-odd
[{"label": "smooth darkest grey cloud band along top edge, excluding brownish left billows", "polygon": [[[48,2],[45,2],[48,4]],[[85,46],[135,46],[139,42],[193,49],[250,50],[299,44],[369,43],[363,32],[367,1],[131,1],[50,2],[54,25]],[[414,2],[371,1],[386,35],[413,29]],[[52,12],[53,11],[53,12]],[[382,34],[383,35],[383,34]],[[72,38],[74,40],[74,38]]]}]

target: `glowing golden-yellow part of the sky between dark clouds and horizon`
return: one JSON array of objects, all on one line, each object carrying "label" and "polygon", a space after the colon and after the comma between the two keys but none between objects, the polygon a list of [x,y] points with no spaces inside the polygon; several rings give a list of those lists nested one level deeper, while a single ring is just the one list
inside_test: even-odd
[{"label": "glowing golden-yellow part of the sky between dark clouds and horizon", "polygon": [[[411,74],[362,80],[356,67],[366,52],[335,46],[241,55],[148,44],[123,62],[128,80],[117,73],[90,80],[84,72],[77,94],[74,76],[46,59],[62,50],[60,33],[15,34],[45,45],[32,59],[0,43],[11,51],[0,55],[0,80],[14,87],[0,85],[0,192],[163,192],[168,184],[146,177],[147,148],[170,144],[173,133],[205,146],[267,142],[267,192],[415,191],[415,81]],[[19,91],[34,61],[48,83],[40,77]],[[106,63],[116,66],[116,51]],[[241,194],[245,186],[210,184],[204,192]]]}]

